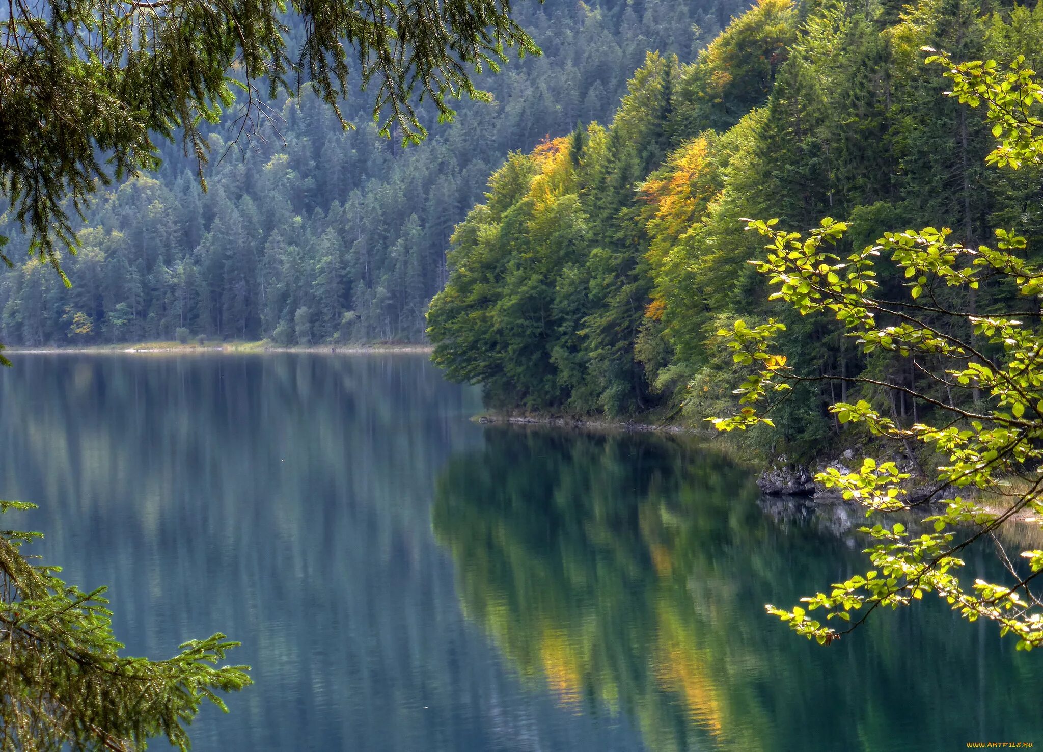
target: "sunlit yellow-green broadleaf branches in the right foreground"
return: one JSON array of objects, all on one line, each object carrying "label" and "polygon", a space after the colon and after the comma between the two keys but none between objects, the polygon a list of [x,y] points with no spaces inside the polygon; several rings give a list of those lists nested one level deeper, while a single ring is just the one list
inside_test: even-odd
[{"label": "sunlit yellow-green broadleaf branches in the right foreground", "polygon": [[[1017,169],[1039,159],[1043,123],[1033,108],[1043,102],[1043,86],[1022,59],[1005,72],[994,60],[956,65],[944,53],[927,62],[946,69],[953,83],[950,96],[973,107],[987,105],[999,142],[988,162]],[[1043,336],[1038,321],[1025,322],[1040,316],[1043,271],[1026,260],[1025,239],[998,228],[993,246],[972,247],[954,242],[948,228],[925,227],[884,233],[874,244],[841,256],[834,248],[848,231],[846,222],[827,217],[806,237],[775,229],[776,223],[749,224],[770,241],[767,259],[754,265],[770,277],[772,297],[802,316],[832,316],[864,355],[886,351],[920,375],[919,383],[867,373],[840,377],[882,390],[892,407],[895,394],[919,403],[919,419],[913,422],[897,419],[893,410],[888,414],[879,398],[836,402],[830,412],[841,423],[860,424],[875,437],[926,444],[945,460],[925,499],[909,496],[902,484],[909,475],[892,461],[867,458],[855,471],[820,474],[820,482],[866,507],[867,516],[884,515],[863,528],[872,539],[866,552],[872,568],[834,583],[828,593],[802,599],[803,606],[769,605],[769,613],[799,634],[829,644],[879,607],[908,606],[935,592],[967,620],[986,618],[998,625],[1000,634],[1013,633],[1018,650],[1043,645],[1043,612],[1033,582],[1043,572],[1043,552],[1012,557],[997,537],[1019,515],[1032,515],[1025,524],[1038,524],[1043,515]],[[891,262],[888,273],[880,260]],[[889,292],[884,280],[892,274],[903,281],[907,297]],[[987,286],[1000,294],[996,310],[980,313],[975,304],[980,305]],[[736,390],[744,407],[737,415],[714,418],[719,429],[771,424],[767,415],[777,395],[795,383],[838,379],[794,370],[774,344],[783,329],[777,322],[750,328],[735,321],[731,332],[722,332],[733,359],[748,371]],[[755,406],[765,403],[768,407],[758,412]],[[1000,501],[987,504],[984,491]],[[933,506],[923,528],[906,529],[886,516],[927,504]],[[1005,582],[960,579],[968,554],[983,544],[997,547],[1009,574]],[[824,620],[812,616],[818,609]],[[832,618],[849,626],[830,627]]]}]

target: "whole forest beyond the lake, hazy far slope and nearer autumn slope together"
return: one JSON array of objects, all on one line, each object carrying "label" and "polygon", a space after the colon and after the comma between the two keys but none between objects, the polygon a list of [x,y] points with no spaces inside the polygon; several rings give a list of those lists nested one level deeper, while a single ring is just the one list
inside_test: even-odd
[{"label": "whole forest beyond the lake, hazy far slope and nearer autumn slope together", "polygon": [[[207,131],[207,193],[171,144],[157,172],[103,190],[66,263],[71,289],[39,259],[0,271],[0,341],[430,342],[494,409],[696,423],[731,411],[743,379],[719,332],[774,317],[802,374],[915,388],[914,361],[769,301],[746,220],[834,217],[849,249],[926,225],[969,246],[1006,227],[1033,247],[1039,168],[987,166],[985,113],[944,96],[922,48],[1032,65],[1043,11],[729,2],[523,6],[542,56],[488,77],[493,103],[461,104],[420,145],[380,138],[362,107],[341,129],[307,83],[250,140],[235,140],[232,108]],[[25,236],[0,220],[24,259]],[[749,438],[815,456],[849,391],[801,384],[777,430]],[[899,420],[923,407],[889,399]]]}]

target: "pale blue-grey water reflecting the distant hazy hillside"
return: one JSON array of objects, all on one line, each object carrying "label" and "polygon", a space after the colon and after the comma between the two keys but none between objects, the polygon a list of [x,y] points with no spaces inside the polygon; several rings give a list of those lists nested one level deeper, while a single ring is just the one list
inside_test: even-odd
[{"label": "pale blue-grey water reflecting the distant hazy hillside", "polygon": [[70,581],[111,585],[129,654],[243,640],[257,684],[196,750],[634,749],[460,614],[431,502],[479,409],[422,355],[16,356],[0,499],[41,506],[18,524]]}]

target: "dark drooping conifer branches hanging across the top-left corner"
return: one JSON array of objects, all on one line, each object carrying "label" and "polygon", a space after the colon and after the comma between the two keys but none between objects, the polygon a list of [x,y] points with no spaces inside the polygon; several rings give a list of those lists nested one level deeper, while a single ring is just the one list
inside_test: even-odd
[{"label": "dark drooping conifer branches hanging across the top-left corner", "polygon": [[[0,196],[62,273],[73,219],[96,188],[154,169],[157,140],[177,134],[202,179],[201,129],[239,106],[240,136],[261,136],[269,98],[307,82],[345,128],[339,102],[372,92],[384,136],[427,130],[415,101],[453,119],[454,99],[488,99],[475,83],[515,48],[539,49],[511,0],[11,0],[0,20]],[[291,51],[287,17],[304,22]],[[0,238],[0,246],[5,239]],[[0,261],[10,260],[0,248]],[[63,274],[63,278],[65,278]],[[68,284],[68,280],[66,280]]]}]

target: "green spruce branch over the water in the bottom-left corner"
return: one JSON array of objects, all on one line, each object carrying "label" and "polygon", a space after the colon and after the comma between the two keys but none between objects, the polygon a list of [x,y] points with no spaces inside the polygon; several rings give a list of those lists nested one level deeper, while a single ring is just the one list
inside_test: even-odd
[{"label": "green spruce branch over the water in the bottom-left corner", "polygon": [[218,693],[250,683],[247,666],[216,665],[239,644],[215,634],[168,660],[121,657],[105,588],[83,592],[30,563],[21,549],[35,537],[0,533],[0,749],[138,750],[154,736],[189,749],[202,702],[226,711]]}]

